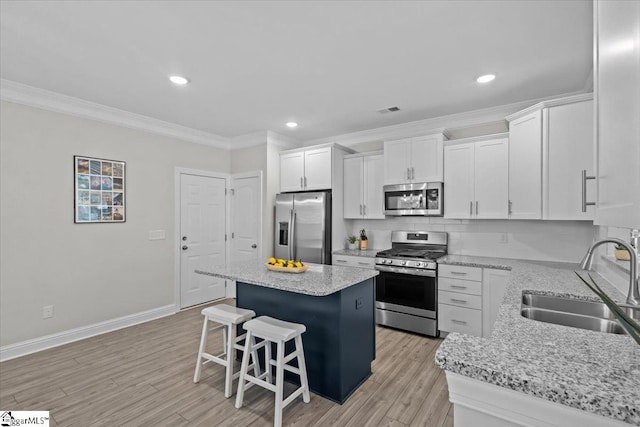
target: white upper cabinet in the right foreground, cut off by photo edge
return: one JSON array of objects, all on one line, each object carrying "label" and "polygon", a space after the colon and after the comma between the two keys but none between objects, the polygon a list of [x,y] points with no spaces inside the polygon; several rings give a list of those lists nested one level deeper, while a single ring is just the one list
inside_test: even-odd
[{"label": "white upper cabinet in the right foreground, cut off by photo edge", "polygon": [[598,225],[640,228],[640,2],[596,1]]}]

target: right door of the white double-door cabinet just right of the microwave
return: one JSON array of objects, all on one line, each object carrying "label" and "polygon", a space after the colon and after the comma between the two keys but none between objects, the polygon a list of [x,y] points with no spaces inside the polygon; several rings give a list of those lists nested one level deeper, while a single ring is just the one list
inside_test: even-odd
[{"label": "right door of the white double-door cabinet just right of the microwave", "polygon": [[[509,217],[509,141],[475,143],[475,218]],[[445,197],[446,201],[446,197]]]}]

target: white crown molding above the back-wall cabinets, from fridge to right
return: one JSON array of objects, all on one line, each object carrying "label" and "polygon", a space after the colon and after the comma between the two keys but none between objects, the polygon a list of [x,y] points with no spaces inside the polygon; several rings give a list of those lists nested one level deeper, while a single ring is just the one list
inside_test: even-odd
[{"label": "white crown molding above the back-wall cabinets, from fridge to right", "polygon": [[[585,95],[582,92],[573,92],[561,95],[569,97],[575,95]],[[590,95],[590,94],[588,94]],[[557,98],[557,97],[556,97]],[[514,102],[512,104],[499,105],[497,107],[483,108],[479,110],[466,111],[462,113],[449,114],[446,116],[433,117],[429,119],[418,120],[414,122],[401,123],[392,126],[384,126],[375,129],[367,129],[359,132],[335,135],[326,138],[314,139],[306,141],[303,145],[326,144],[329,142],[339,143],[346,147],[362,144],[365,142],[393,140],[401,138],[410,138],[413,136],[426,135],[430,133],[443,132],[448,135],[449,130],[469,128],[490,122],[505,120],[509,114],[514,114],[519,110],[528,108],[541,101],[549,100],[549,97],[531,99],[527,101]],[[555,99],[555,98],[553,98]],[[444,129],[444,131],[443,131]]]}]

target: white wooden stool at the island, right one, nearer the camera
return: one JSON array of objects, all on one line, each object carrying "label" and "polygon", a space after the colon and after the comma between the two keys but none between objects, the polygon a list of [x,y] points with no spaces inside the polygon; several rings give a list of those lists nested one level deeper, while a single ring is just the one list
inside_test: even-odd
[{"label": "white wooden stool at the island, right one, nearer the camera", "polygon": [[[260,316],[256,319],[249,320],[242,326],[247,331],[247,339],[244,344],[244,353],[242,355],[242,365],[240,367],[240,379],[238,380],[238,394],[236,396],[236,408],[242,407],[242,399],[244,391],[253,384],[259,385],[271,390],[276,394],[276,407],[273,425],[280,427],[282,425],[282,410],[291,403],[296,397],[302,394],[304,403],[309,403],[309,383],[307,381],[307,366],[304,361],[304,349],[302,348],[302,334],[307,330],[304,325],[298,323],[285,322],[283,320],[274,319],[268,316]],[[256,338],[262,338],[256,345]],[[284,344],[295,339],[296,349],[288,356],[284,355]],[[276,343],[277,356],[276,360],[271,359],[271,343]],[[262,379],[265,374],[260,377],[249,375],[247,372],[250,368],[249,354],[253,359],[253,363],[258,363],[256,351],[264,347],[265,350],[265,366],[266,381]],[[298,359],[298,368],[287,365],[292,359]],[[272,383],[271,366],[276,367],[276,383]],[[293,372],[300,377],[300,387],[283,400],[284,371]],[[248,381],[252,384],[246,384]]]}]

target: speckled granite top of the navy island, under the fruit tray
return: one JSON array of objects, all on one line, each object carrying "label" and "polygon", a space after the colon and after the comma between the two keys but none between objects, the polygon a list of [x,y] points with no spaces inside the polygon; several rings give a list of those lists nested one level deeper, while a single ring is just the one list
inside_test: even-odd
[{"label": "speckled granite top of the navy island, under the fruit tray", "polygon": [[314,296],[326,296],[377,276],[376,270],[308,263],[304,273],[269,271],[262,261],[232,262],[196,273],[237,280],[266,288]]}]

